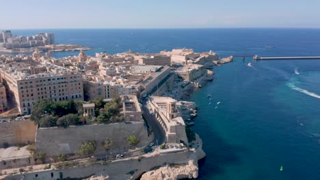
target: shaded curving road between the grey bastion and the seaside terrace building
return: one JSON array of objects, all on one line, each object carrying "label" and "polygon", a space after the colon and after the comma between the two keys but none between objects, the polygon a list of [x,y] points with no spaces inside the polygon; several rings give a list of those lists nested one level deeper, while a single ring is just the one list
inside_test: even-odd
[{"label": "shaded curving road between the grey bastion and the seaside terrace building", "polygon": [[165,132],[162,129],[159,121],[154,116],[150,115],[146,100],[143,100],[142,102],[142,111],[144,112],[149,125],[152,127],[153,134],[155,136],[153,142],[155,142],[155,145],[157,145],[158,140],[158,145],[163,144],[165,142]]}]

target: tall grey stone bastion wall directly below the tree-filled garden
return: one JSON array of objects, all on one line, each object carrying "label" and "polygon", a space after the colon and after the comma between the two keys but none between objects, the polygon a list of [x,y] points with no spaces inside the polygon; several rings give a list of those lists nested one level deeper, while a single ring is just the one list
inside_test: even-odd
[{"label": "tall grey stone bastion wall directly below the tree-filled garden", "polygon": [[122,153],[129,149],[126,138],[135,135],[140,142],[137,147],[148,145],[150,138],[143,122],[112,123],[40,128],[36,134],[36,149],[48,156],[59,153],[76,153],[83,142],[96,141],[96,153],[104,153],[103,142],[109,138],[113,142],[109,151]]}]

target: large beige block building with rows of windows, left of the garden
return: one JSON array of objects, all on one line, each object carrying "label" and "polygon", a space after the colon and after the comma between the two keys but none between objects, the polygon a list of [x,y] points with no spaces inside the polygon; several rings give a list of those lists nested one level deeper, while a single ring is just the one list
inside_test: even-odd
[{"label": "large beige block building with rows of windows, left of the garden", "polygon": [[68,71],[27,74],[20,70],[0,70],[0,73],[10,97],[24,114],[30,114],[32,105],[43,99],[51,99],[54,102],[83,100],[81,74]]}]

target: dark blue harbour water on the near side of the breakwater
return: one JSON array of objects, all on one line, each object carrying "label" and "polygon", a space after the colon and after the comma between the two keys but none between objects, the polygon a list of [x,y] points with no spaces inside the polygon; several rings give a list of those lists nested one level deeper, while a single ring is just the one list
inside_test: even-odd
[{"label": "dark blue harbour water on the near side of the breakwater", "polygon": [[320,138],[312,136],[320,132],[319,63],[247,63],[215,67],[213,83],[191,97],[199,106],[193,130],[209,154],[200,177],[320,179]]}]

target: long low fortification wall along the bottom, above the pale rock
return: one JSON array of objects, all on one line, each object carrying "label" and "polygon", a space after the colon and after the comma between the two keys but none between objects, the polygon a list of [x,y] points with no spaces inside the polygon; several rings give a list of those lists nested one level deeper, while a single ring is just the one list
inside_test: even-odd
[{"label": "long low fortification wall along the bottom, above the pale rock", "polygon": [[[23,175],[12,175],[5,179],[58,179],[58,178],[79,178],[84,179],[91,176],[107,177],[109,179],[137,179],[139,175],[152,168],[163,166],[163,164],[186,164],[190,159],[194,159],[194,153],[183,151],[180,153],[170,153],[144,157],[142,159],[119,160],[107,165],[80,166],[68,169],[43,170],[40,172],[27,172]],[[194,159],[197,162],[196,159]],[[198,165],[198,164],[197,164]]]}]

